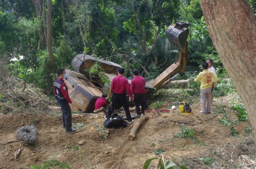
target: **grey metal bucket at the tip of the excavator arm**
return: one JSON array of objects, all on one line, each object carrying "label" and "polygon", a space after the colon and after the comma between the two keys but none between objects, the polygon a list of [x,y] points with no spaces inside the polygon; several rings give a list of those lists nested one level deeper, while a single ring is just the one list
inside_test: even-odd
[{"label": "grey metal bucket at the tip of the excavator arm", "polygon": [[189,23],[180,23],[175,20],[175,23],[166,29],[166,37],[172,46],[181,50],[185,48],[185,42],[189,35],[189,25]]}]

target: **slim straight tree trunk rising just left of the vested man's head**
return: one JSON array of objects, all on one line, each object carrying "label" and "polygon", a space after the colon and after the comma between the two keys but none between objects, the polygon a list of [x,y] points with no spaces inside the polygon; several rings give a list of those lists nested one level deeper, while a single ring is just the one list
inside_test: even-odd
[{"label": "slim straight tree trunk rising just left of the vested man's head", "polygon": [[47,6],[47,48],[49,53],[49,61],[52,65],[52,72],[55,73],[54,56],[52,51],[52,0],[48,0]]}]

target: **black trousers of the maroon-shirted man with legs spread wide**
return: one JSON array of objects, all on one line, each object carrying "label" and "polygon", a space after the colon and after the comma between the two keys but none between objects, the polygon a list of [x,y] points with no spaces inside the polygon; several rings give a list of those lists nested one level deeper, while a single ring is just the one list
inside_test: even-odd
[{"label": "black trousers of the maroon-shirted man with legs spread wide", "polygon": [[116,105],[121,104],[122,107],[124,107],[126,118],[128,119],[128,121],[132,121],[131,113],[129,111],[129,106],[128,106],[128,102],[127,102],[125,93],[122,93],[122,94],[113,93],[111,101],[112,101],[112,105],[111,105],[111,107],[108,108],[108,118],[111,116],[111,114],[115,110]]}]

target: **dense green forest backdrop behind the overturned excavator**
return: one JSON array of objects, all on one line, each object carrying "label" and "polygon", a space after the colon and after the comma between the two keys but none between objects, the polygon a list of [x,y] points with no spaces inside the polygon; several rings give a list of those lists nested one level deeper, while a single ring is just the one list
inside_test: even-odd
[{"label": "dense green forest backdrop behind the overturned excavator", "polygon": [[[0,0],[0,59],[22,81],[49,91],[55,71],[72,69],[71,61],[81,53],[116,62],[126,70],[137,69],[149,81],[176,61],[178,51],[164,34],[175,19],[191,24],[189,59],[181,79],[200,70],[207,58],[214,60],[219,74],[227,76],[209,37],[199,0],[47,0],[41,2],[43,8],[38,14],[37,2]],[[248,3],[256,13],[256,0]],[[51,15],[44,15],[42,11],[47,13],[50,7]],[[46,22],[49,17],[51,25]],[[49,44],[41,40],[41,32],[47,32],[49,26],[53,63],[46,48]],[[14,58],[18,61],[11,61]]]}]

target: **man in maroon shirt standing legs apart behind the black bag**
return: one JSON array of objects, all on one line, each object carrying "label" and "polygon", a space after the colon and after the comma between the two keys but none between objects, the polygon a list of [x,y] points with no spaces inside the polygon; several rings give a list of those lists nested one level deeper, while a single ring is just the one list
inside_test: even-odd
[{"label": "man in maroon shirt standing legs apart behind the black bag", "polygon": [[108,114],[105,116],[106,119],[110,118],[110,115],[115,110],[117,104],[121,104],[125,110],[126,118],[128,119],[128,124],[132,124],[134,121],[131,119],[131,113],[129,111],[128,102],[126,99],[125,91],[129,93],[129,96],[133,98],[131,89],[129,87],[128,80],[123,77],[125,73],[124,68],[118,68],[118,76],[114,77],[110,87],[110,94],[112,94],[111,107],[108,108]]}]

